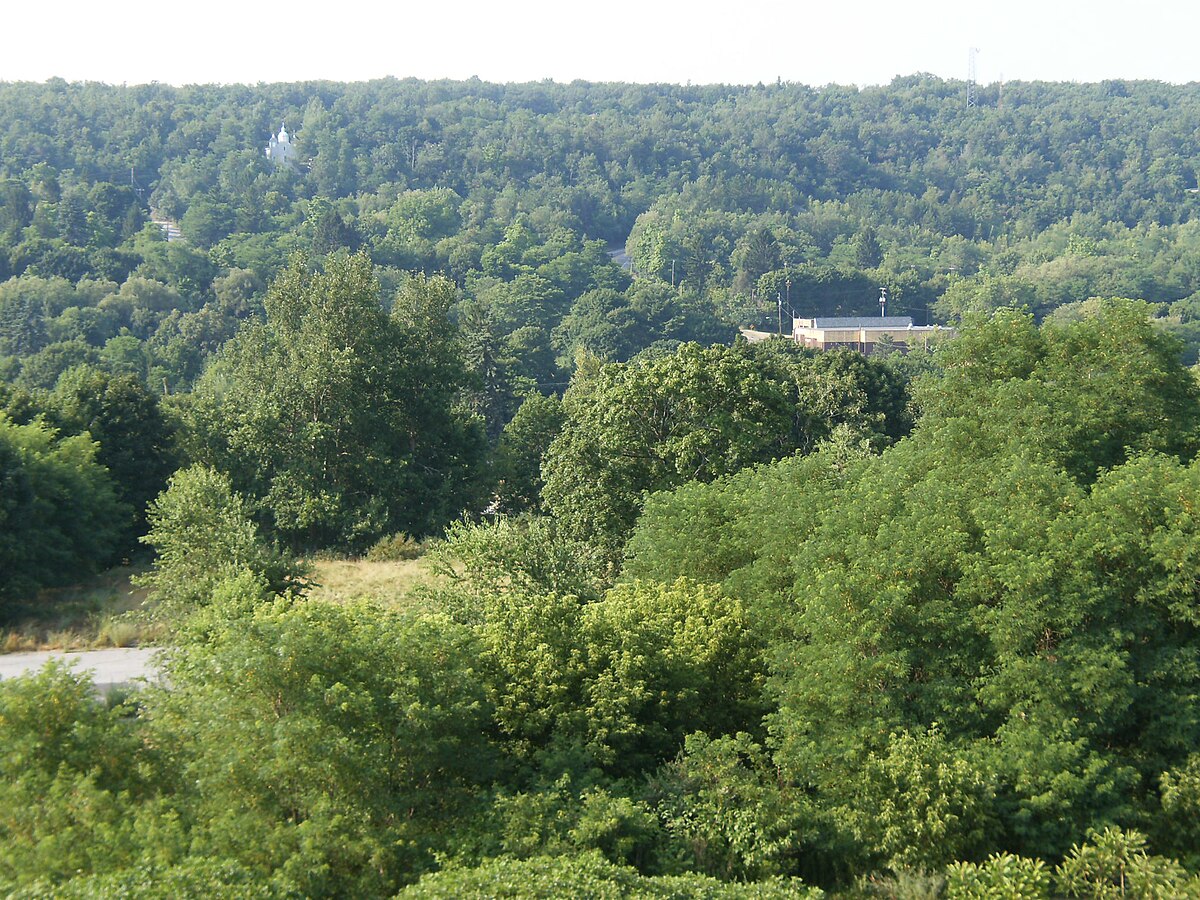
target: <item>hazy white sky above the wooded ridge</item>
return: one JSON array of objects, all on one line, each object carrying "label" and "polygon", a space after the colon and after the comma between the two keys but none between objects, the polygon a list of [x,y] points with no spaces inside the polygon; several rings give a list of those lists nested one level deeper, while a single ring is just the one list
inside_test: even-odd
[{"label": "hazy white sky above the wooded ridge", "polygon": [[1200,80],[1200,4],[8,0],[0,80]]}]

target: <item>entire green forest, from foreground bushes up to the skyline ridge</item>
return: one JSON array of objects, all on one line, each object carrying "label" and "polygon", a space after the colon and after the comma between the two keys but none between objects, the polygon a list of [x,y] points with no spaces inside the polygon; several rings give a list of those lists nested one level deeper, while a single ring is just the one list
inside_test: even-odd
[{"label": "entire green forest, from foreground bushes up to the skyline ridge", "polygon": [[1200,896],[1200,88],[962,86],[0,84],[0,889]]}]

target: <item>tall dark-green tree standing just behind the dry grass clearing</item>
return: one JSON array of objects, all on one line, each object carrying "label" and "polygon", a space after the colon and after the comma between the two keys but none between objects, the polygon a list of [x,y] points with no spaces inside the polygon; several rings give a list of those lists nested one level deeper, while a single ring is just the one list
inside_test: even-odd
[{"label": "tall dark-green tree standing just behind the dry grass clearing", "polygon": [[452,408],[466,376],[446,293],[412,282],[389,317],[366,256],[317,272],[298,257],[266,322],[244,328],[197,386],[200,458],[289,546],[425,534],[475,503],[484,439]]}]

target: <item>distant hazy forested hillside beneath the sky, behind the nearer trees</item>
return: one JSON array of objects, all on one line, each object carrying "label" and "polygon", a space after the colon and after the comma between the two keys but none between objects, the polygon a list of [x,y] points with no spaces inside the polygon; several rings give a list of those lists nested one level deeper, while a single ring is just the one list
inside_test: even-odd
[{"label": "distant hazy forested hillside beneath the sky, behind the nearer trees", "polygon": [[[0,277],[18,278],[0,371],[49,388],[98,362],[186,386],[289,253],[340,247],[389,284],[449,275],[494,344],[478,353],[508,362],[494,377],[541,384],[581,346],[727,338],[774,322],[776,294],[870,312],[880,286],[918,323],[1118,295],[1190,334],[1198,114],[1194,86],[1010,83],[967,108],[931,77],[0,85]],[[295,164],[276,168],[284,121]],[[158,240],[150,209],[186,242]],[[682,290],[630,286],[602,252],[620,247]]]}]

